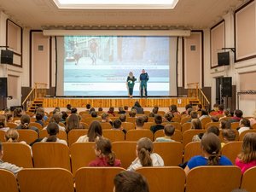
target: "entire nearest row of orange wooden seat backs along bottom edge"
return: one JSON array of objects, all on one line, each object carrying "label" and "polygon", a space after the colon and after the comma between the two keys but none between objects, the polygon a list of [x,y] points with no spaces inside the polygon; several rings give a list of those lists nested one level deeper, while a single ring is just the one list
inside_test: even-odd
[{"label": "entire nearest row of orange wooden seat backs along bottom edge", "polygon": [[[73,175],[61,168],[23,169],[15,175],[0,170],[0,191],[4,192],[112,192],[113,177],[125,171],[119,167],[83,167]],[[179,167],[142,167],[136,172],[148,180],[150,192],[255,192],[256,167],[243,175],[237,166],[200,166],[185,175]],[[18,188],[19,185],[19,188]]]}]

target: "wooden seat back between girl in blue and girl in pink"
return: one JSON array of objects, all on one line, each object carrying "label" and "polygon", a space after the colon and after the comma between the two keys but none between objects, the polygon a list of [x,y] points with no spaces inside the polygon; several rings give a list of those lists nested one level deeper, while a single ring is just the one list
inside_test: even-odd
[{"label": "wooden seat back between girl in blue and girl in pink", "polygon": [[228,157],[233,165],[235,165],[236,157],[241,153],[242,142],[226,143],[221,149],[221,154]]}]

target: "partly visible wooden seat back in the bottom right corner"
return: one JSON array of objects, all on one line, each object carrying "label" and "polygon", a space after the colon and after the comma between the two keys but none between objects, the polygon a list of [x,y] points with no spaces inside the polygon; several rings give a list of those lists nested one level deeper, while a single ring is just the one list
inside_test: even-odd
[{"label": "partly visible wooden seat back in the bottom right corner", "polygon": [[256,167],[252,167],[243,173],[241,179],[241,189],[246,189],[250,192],[256,192],[255,188],[255,177],[256,177]]}]

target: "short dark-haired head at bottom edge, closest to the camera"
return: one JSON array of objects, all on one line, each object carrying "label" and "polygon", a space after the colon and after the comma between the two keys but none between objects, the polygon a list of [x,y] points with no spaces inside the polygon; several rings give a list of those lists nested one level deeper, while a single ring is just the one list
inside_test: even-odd
[{"label": "short dark-haired head at bottom edge, closest to the camera", "polygon": [[147,179],[138,172],[119,172],[113,185],[113,192],[149,192]]}]

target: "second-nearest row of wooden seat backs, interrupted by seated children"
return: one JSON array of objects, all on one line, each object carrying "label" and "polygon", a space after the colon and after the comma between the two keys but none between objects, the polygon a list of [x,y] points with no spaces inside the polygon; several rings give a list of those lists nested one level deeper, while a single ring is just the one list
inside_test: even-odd
[{"label": "second-nearest row of wooden seat backs, interrupted by seated children", "polygon": [[[121,160],[122,167],[127,168],[136,159],[136,142],[115,142],[113,152]],[[241,152],[242,142],[224,145],[222,154],[235,164],[236,156]],[[61,167],[75,173],[80,167],[88,166],[96,159],[93,150],[95,143],[74,143],[70,148],[61,143],[35,143],[30,148],[22,143],[3,143],[3,161],[16,166],[32,168]],[[201,155],[201,143],[189,143],[183,150],[181,143],[154,143],[154,152],[160,154],[165,166],[178,166],[195,155]]]}]

